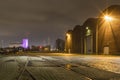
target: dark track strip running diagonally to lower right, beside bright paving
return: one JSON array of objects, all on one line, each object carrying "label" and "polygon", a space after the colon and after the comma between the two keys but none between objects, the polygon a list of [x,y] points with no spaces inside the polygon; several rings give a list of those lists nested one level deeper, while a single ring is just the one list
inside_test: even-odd
[{"label": "dark track strip running diagonally to lower right, beside bright paving", "polygon": [[[58,59],[58,58],[54,58],[54,57],[52,57],[52,58]],[[82,75],[82,76],[88,78],[89,80],[120,80],[120,74],[117,74],[117,73],[100,70],[100,69],[86,66],[83,64],[73,63],[73,62],[70,62],[65,59],[63,59],[63,62],[66,62],[67,64],[62,63],[60,59],[54,60],[54,61],[49,60],[45,57],[43,57],[43,59],[45,59],[46,61],[49,61],[50,63],[53,63],[53,64],[58,65],[58,63],[59,63],[58,66],[61,66],[62,68],[70,70],[76,74]]]}]

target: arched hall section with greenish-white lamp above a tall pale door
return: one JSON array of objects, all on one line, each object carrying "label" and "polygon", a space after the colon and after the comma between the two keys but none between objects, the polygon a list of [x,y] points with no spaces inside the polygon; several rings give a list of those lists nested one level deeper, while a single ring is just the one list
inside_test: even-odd
[{"label": "arched hall section with greenish-white lamp above a tall pale door", "polygon": [[97,18],[89,18],[83,24],[83,52],[96,53],[96,26]]}]

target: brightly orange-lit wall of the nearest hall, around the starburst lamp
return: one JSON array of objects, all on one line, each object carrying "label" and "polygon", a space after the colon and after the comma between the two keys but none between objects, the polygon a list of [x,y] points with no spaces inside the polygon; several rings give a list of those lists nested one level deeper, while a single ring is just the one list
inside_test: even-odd
[{"label": "brightly orange-lit wall of the nearest hall, around the starburst lamp", "polygon": [[99,21],[99,52],[104,53],[104,48],[109,47],[109,54],[120,54],[120,6],[110,6],[103,14],[100,17],[109,15],[112,20]]}]

